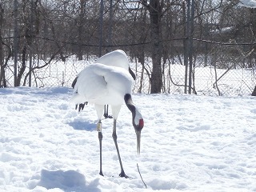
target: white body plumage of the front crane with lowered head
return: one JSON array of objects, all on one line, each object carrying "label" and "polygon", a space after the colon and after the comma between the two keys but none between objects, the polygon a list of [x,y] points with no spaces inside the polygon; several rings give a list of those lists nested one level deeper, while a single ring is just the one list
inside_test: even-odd
[{"label": "white body plumage of the front crane with lowered head", "polygon": [[[122,105],[124,95],[130,94],[134,79],[121,67],[94,63],[78,75],[73,102],[97,105]],[[124,86],[125,85],[125,86]]]}]

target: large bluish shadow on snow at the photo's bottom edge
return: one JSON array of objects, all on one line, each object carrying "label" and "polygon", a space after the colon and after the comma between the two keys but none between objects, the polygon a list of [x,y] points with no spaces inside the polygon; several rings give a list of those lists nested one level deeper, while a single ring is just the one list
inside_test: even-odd
[{"label": "large bluish shadow on snow at the photo's bottom edge", "polygon": [[86,177],[74,170],[42,170],[38,186],[45,187],[47,190],[59,188],[65,192],[100,191],[97,188],[98,180],[86,186]]}]

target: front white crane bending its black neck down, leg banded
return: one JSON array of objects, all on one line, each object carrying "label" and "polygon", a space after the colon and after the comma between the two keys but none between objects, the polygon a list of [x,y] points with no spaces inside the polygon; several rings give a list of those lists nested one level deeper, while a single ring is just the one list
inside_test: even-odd
[{"label": "front white crane bending its black neck down, leg banded", "polygon": [[[129,67],[129,66],[128,66]],[[110,105],[114,118],[113,134],[114,144],[118,152],[118,159],[121,167],[120,177],[127,178],[118,150],[116,123],[122,104],[126,106],[132,113],[132,123],[137,135],[137,151],[140,153],[141,130],[144,126],[142,114],[134,105],[131,98],[131,89],[134,79],[127,69],[120,66],[105,65],[94,63],[86,66],[84,70],[78,74],[74,82],[74,97],[72,102],[76,104],[90,102],[94,103],[95,110],[98,115],[98,139],[100,146],[100,171],[102,173],[102,114],[105,105]]]}]

